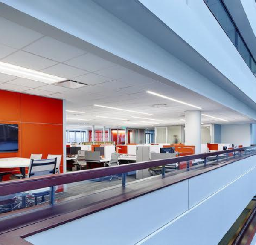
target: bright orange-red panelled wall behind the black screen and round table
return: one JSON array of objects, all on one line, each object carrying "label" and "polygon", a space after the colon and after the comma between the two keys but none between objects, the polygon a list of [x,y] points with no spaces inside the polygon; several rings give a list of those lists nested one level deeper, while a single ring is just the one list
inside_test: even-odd
[{"label": "bright orange-red panelled wall behind the black screen and round table", "polygon": [[0,123],[19,125],[19,152],[0,153],[0,158],[29,157],[31,153],[42,153],[44,158],[63,156],[62,113],[61,100],[0,90]]}]

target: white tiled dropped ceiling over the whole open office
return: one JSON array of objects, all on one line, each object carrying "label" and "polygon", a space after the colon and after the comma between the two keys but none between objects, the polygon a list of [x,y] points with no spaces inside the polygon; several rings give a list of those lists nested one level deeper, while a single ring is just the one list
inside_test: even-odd
[{"label": "white tiled dropped ceiling over the whole open office", "polygon": [[[27,18],[25,21],[31,20],[31,17],[27,16]],[[37,23],[37,21],[32,22],[34,28],[38,26]],[[58,29],[42,25],[41,22],[39,24],[39,30],[46,28],[47,33],[53,36],[56,33],[63,35],[63,32]],[[106,126],[112,127],[140,128],[182,124],[180,119],[184,118],[184,111],[193,109],[189,105],[180,104],[177,101],[198,105],[202,107],[205,114],[226,119],[233,124],[252,122],[244,115],[178,84],[169,81],[165,84],[127,69],[121,65],[122,59],[115,57],[115,61],[120,62],[109,61],[103,58],[102,54],[105,54],[105,51],[90,44],[85,46],[84,41],[77,40],[67,33],[65,34],[67,42],[64,43],[52,36],[45,35],[46,32],[39,33],[2,17],[0,17],[0,29],[1,25],[2,29],[8,28],[9,31],[0,40],[0,61],[88,84],[82,88],[70,89],[56,86],[56,84],[45,84],[0,73],[0,89],[66,99],[67,110],[75,111],[67,112],[67,118],[72,118],[67,120],[68,124],[86,126],[104,123]],[[15,40],[13,40],[14,37]],[[72,45],[74,39],[78,41],[76,46]],[[100,55],[96,55],[97,52]],[[148,94],[146,93],[148,90],[174,98],[176,101]],[[128,109],[130,112],[100,108],[94,104]],[[85,113],[78,113],[79,111]],[[150,119],[160,119],[159,124],[151,126],[152,120],[148,120],[146,115],[144,118],[134,118],[134,112],[131,111],[152,114]],[[158,123],[154,120],[153,122]],[[147,121],[148,123],[146,123]],[[212,118],[202,117],[202,121],[225,124],[223,121]]]}]

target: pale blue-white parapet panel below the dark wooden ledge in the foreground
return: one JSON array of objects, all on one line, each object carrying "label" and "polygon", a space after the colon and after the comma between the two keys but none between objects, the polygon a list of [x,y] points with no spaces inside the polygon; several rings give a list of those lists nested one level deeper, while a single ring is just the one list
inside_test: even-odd
[{"label": "pale blue-white parapet panel below the dark wooden ledge in the foreground", "polygon": [[36,245],[216,245],[256,192],[255,160],[236,161],[26,240]]}]

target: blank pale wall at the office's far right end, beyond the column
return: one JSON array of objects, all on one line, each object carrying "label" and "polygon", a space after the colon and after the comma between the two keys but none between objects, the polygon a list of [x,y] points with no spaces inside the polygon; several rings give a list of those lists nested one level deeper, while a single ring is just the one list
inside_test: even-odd
[{"label": "blank pale wall at the office's far right end, beyond the column", "polygon": [[250,124],[229,124],[221,126],[221,143],[230,143],[234,145],[251,144],[251,126]]}]

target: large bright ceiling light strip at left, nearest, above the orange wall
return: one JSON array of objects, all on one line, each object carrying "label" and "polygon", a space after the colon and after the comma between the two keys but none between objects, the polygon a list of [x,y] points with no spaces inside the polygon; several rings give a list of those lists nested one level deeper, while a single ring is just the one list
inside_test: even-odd
[{"label": "large bright ceiling light strip at left, nearest, above the orange wall", "polygon": [[0,61],[0,73],[12,75],[19,78],[27,78],[47,84],[53,84],[67,80],[66,78],[57,77],[44,72],[38,72],[32,69],[27,69],[21,66],[15,66],[9,63]]}]

